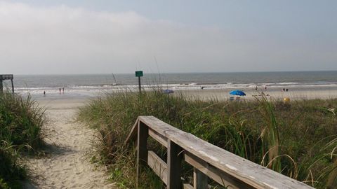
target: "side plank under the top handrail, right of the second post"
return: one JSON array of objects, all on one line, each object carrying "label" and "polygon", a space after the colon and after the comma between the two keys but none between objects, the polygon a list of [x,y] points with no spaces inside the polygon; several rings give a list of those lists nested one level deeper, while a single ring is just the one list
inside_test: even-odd
[{"label": "side plank under the top handrail, right of the second post", "polygon": [[[190,153],[187,153],[187,152],[185,153],[185,161],[187,163],[189,163],[190,165],[192,165],[193,167],[195,167],[195,169],[198,169],[199,172],[209,176],[209,178],[213,179],[214,181],[216,181],[217,183],[219,183],[222,186],[226,186],[226,187],[234,188],[234,189],[253,188],[253,187],[247,185],[246,183],[244,183],[243,181],[235,179],[234,177],[232,177],[228,174],[225,174],[225,172],[222,172],[222,171],[216,169],[216,167],[210,166],[204,160],[201,160],[201,159],[195,157],[194,155],[192,155]],[[194,176],[194,178],[195,178],[195,176]],[[198,188],[197,184],[198,183],[195,183],[195,181],[194,181],[194,188]],[[199,187],[205,188],[205,187],[207,187],[207,184],[205,184],[203,186],[199,186]]]}]

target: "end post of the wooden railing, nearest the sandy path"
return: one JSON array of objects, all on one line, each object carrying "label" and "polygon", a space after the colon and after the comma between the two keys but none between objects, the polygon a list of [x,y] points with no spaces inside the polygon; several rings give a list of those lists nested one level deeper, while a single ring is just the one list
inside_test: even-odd
[{"label": "end post of the wooden railing, nearest the sandy path", "polygon": [[143,165],[147,165],[147,137],[149,136],[149,127],[138,121],[138,145],[137,145],[137,186],[139,183],[140,169]]}]

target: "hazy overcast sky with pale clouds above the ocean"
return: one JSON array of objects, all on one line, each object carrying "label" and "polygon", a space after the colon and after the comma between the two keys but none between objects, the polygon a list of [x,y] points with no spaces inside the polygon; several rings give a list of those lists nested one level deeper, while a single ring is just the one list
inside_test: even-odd
[{"label": "hazy overcast sky with pale clouds above the ocean", "polygon": [[337,70],[337,1],[1,1],[0,72]]}]

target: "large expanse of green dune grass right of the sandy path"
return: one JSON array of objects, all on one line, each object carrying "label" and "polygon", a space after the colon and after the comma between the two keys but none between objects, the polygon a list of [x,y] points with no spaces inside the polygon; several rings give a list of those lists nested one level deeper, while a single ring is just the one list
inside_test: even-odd
[{"label": "large expanse of green dune grass right of the sandy path", "polygon": [[[147,115],[310,186],[333,188],[336,107],[337,99],[203,102],[154,90],[140,97],[133,92],[105,94],[81,108],[78,118],[98,131],[91,160],[106,165],[121,188],[135,188],[136,152],[124,141],[136,118]],[[164,155],[157,144],[150,145]],[[188,166],[184,170],[190,172]],[[140,181],[142,188],[164,188],[150,171]]]}]

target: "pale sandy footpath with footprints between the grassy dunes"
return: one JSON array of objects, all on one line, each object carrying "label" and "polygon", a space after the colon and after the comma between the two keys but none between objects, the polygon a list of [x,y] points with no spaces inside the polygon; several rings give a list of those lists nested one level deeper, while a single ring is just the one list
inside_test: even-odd
[{"label": "pale sandy footpath with footprints between the grassy dunes", "polygon": [[116,188],[105,182],[103,170],[88,162],[86,152],[91,148],[93,130],[74,123],[77,108],[84,102],[63,99],[40,104],[46,106],[51,122],[47,154],[28,160],[33,183],[27,183],[25,188]]}]

